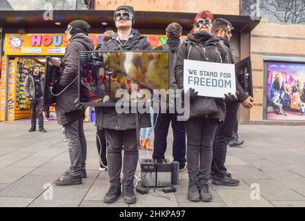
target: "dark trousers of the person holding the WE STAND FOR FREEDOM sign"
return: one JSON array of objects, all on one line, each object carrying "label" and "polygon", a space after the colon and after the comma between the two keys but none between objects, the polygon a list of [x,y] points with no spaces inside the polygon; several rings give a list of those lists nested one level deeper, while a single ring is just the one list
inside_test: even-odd
[{"label": "dark trousers of the person holding the WE STAND FOR FREEDOM sign", "polygon": [[213,159],[213,141],[219,119],[191,118],[186,122],[189,184],[208,184]]}]

